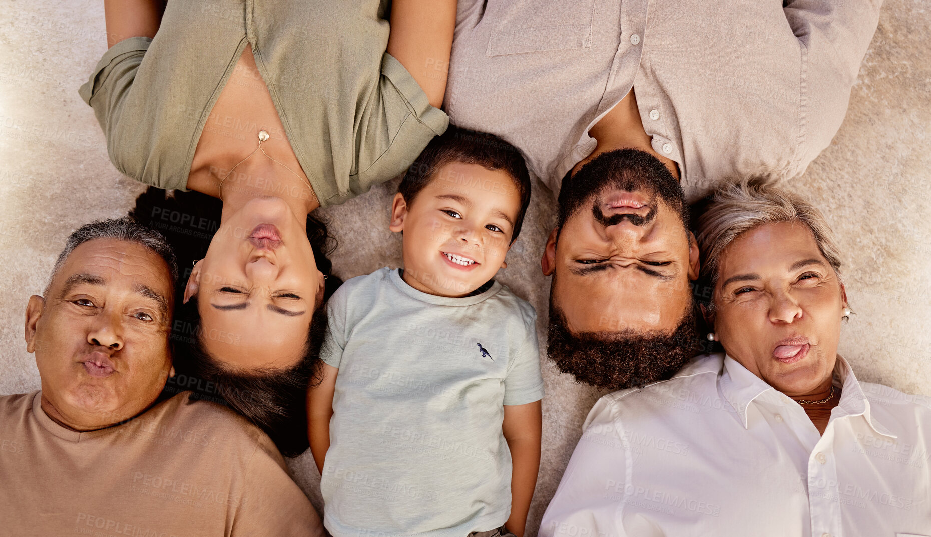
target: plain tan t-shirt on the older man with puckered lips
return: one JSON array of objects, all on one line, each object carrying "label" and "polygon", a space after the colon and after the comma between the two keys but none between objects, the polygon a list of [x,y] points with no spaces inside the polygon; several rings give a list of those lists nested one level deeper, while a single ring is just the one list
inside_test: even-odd
[{"label": "plain tan t-shirt on the older man with puckered lips", "polygon": [[52,422],[40,392],[0,397],[0,533],[321,534],[268,436],[189,396],[89,433]]}]

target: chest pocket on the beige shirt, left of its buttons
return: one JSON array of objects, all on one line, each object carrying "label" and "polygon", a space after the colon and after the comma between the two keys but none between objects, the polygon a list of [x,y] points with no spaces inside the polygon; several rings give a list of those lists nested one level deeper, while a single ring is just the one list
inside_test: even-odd
[{"label": "chest pocket on the beige shirt, left of its buttons", "polygon": [[531,11],[523,2],[489,6],[481,24],[490,26],[486,55],[506,56],[591,47],[595,0],[545,2]]}]

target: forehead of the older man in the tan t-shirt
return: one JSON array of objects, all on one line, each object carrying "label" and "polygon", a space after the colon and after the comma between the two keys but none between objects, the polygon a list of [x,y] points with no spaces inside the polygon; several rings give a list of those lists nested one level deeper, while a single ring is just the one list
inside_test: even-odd
[{"label": "forehead of the older man in the tan t-shirt", "polygon": [[99,238],[74,248],[52,275],[49,289],[61,291],[75,280],[111,290],[135,292],[145,287],[169,301],[172,297],[169,264],[149,248],[127,240]]}]

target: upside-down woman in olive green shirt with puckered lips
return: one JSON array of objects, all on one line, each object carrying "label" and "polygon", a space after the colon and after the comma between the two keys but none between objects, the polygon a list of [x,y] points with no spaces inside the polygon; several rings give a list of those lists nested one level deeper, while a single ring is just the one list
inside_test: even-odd
[{"label": "upside-down woman in olive green shirt with puckered lips", "polygon": [[220,200],[181,314],[190,363],[240,411],[290,405],[258,393],[296,395],[312,372],[327,263],[307,215],[398,176],[446,129],[455,7],[106,0],[110,49],[80,94],[122,173]]}]

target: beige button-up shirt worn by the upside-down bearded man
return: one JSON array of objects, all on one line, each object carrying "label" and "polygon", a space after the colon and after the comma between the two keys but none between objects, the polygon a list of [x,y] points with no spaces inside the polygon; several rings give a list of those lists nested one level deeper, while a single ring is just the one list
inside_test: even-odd
[{"label": "beige button-up shirt worn by the upside-down bearded man", "polygon": [[846,114],[881,0],[460,0],[446,110],[516,145],[554,193],[633,87],[689,201],[796,177]]}]

